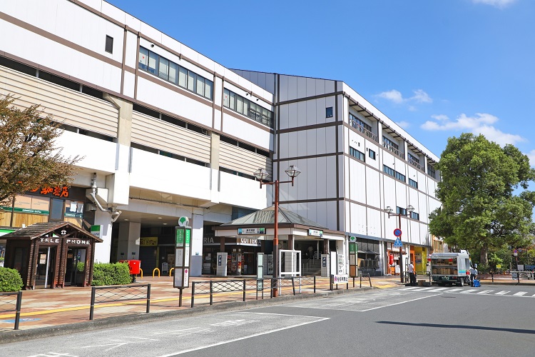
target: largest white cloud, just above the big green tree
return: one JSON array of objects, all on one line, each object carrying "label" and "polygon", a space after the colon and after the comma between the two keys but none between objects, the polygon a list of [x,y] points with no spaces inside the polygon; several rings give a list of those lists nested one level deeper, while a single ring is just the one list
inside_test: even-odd
[{"label": "largest white cloud, just above the big green tree", "polygon": [[526,141],[519,135],[507,134],[496,129],[492,124],[499,119],[491,114],[477,113],[475,116],[461,114],[455,121],[449,121],[444,115],[436,115],[432,118],[437,121],[426,121],[421,128],[429,131],[470,131],[476,135],[483,134],[486,139],[501,146]]}]

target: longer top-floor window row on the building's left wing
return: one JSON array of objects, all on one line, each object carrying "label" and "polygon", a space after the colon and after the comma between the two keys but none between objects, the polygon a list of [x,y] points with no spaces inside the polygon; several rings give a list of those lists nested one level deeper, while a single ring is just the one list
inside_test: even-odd
[{"label": "longer top-floor window row on the building's left wing", "polygon": [[143,47],[139,48],[138,68],[207,99],[213,98],[213,81]]}]

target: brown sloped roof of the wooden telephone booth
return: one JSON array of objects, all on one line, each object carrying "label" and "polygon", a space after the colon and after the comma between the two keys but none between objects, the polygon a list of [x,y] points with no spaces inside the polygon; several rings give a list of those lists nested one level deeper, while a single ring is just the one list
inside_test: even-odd
[{"label": "brown sloped roof of the wooden telephone booth", "polygon": [[73,236],[76,238],[94,238],[95,241],[99,243],[103,241],[101,238],[93,236],[93,234],[84,231],[83,229],[73,225],[72,223],[61,221],[34,223],[31,226],[20,228],[11,233],[4,234],[4,236],[2,236],[2,239],[35,239],[51,232],[56,232],[56,234],[60,235],[58,231],[60,231],[61,229],[66,229],[69,236]]}]

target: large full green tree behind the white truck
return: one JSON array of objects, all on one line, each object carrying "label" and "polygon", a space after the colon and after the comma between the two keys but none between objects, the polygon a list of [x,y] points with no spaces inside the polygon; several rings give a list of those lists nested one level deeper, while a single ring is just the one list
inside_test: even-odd
[{"label": "large full green tree behind the white truck", "polygon": [[442,207],[429,216],[429,231],[450,246],[477,249],[488,264],[489,248],[521,246],[534,233],[535,171],[512,145],[503,148],[484,136],[448,139],[437,165]]}]

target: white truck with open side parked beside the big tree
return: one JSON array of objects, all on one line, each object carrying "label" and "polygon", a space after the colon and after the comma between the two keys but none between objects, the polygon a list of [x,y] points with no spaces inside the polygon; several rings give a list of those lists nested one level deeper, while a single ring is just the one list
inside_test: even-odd
[{"label": "white truck with open side parked beside the big tree", "polygon": [[434,283],[440,286],[446,284],[469,285],[470,267],[470,256],[467,251],[431,254],[431,278]]}]

